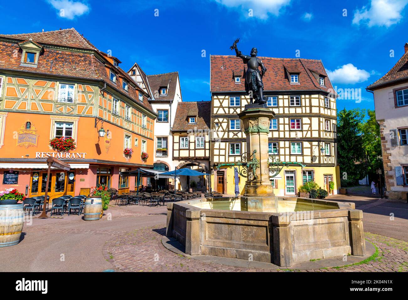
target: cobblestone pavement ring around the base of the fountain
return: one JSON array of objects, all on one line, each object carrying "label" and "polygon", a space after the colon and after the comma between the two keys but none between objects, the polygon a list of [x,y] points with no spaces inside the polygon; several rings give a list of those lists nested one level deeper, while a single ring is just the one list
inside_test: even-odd
[{"label": "cobblestone pavement ring around the base of the fountain", "polygon": [[[103,247],[104,258],[111,262],[117,271],[164,271],[164,272],[211,272],[211,271],[299,271],[290,269],[255,269],[233,267],[223,264],[203,262],[175,254],[166,249],[161,242],[165,233],[165,225],[144,227],[127,232],[105,243]],[[408,271],[408,243],[372,233],[366,233],[366,238],[373,242],[378,255],[367,262],[338,268],[324,268],[302,270],[307,272],[329,271],[368,271],[368,272],[406,272]],[[376,254],[374,254],[375,256]]]}]

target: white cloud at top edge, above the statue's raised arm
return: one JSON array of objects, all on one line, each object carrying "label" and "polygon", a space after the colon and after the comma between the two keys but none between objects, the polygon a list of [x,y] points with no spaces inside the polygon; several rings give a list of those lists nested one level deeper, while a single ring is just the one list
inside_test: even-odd
[{"label": "white cloud at top edge, above the statue's raised arm", "polygon": [[269,14],[279,16],[282,7],[288,5],[290,0],[215,0],[226,7],[239,8],[246,13],[252,9],[253,16],[259,19],[267,19]]}]

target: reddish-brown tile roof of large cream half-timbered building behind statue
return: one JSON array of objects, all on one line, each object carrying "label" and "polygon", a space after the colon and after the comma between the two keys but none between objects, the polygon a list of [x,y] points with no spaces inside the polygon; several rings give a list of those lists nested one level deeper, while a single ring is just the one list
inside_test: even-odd
[{"label": "reddish-brown tile roof of large cream half-timbered building behind statue", "polygon": [[[311,60],[303,58],[272,58],[259,57],[264,63],[267,71],[263,78],[265,91],[305,91],[305,90],[333,90],[333,86],[327,77],[321,60]],[[299,73],[300,84],[290,84],[287,76],[288,72]],[[318,79],[310,71],[318,72],[326,77],[325,87],[320,86]],[[233,75],[242,75],[242,82],[236,84]],[[211,92],[233,92],[245,91],[246,64],[241,58],[236,56],[211,56]]]}]

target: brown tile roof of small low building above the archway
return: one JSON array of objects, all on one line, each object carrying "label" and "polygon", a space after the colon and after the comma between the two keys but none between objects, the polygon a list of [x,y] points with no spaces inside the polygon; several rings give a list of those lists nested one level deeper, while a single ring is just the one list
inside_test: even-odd
[{"label": "brown tile roof of small low building above the archway", "polygon": [[[197,124],[188,124],[187,117],[197,118]],[[211,128],[211,101],[178,102],[176,116],[173,123],[173,131],[187,131],[188,129]]]}]

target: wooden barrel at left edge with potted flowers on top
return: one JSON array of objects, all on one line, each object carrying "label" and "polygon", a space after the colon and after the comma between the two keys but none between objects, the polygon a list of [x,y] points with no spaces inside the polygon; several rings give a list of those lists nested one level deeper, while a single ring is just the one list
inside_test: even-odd
[{"label": "wooden barrel at left edge with potted flowers on top", "polygon": [[0,205],[0,247],[18,244],[23,224],[23,204]]}]

